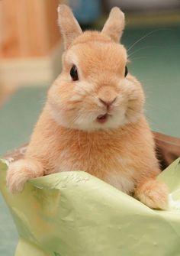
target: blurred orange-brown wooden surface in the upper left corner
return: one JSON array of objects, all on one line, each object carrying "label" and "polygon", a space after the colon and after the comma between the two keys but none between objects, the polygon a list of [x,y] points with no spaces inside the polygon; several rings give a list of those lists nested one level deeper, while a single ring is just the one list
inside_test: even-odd
[{"label": "blurred orange-brown wooden surface in the upper left corner", "polygon": [[59,41],[58,0],[0,1],[0,57],[40,57]]}]

